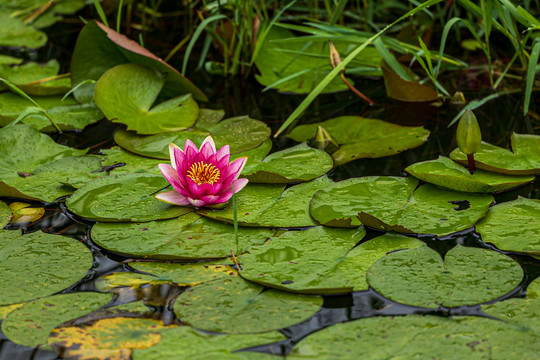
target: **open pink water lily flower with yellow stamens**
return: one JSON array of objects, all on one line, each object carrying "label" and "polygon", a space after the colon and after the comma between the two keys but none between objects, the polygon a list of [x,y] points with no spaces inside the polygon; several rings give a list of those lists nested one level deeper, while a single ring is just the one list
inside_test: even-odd
[{"label": "open pink water lily flower with yellow stamens", "polygon": [[222,204],[232,197],[233,187],[237,193],[248,183],[248,179],[238,178],[247,157],[229,163],[229,145],[216,152],[211,136],[204,139],[200,150],[188,139],[183,150],[170,144],[169,152],[172,166],[159,164],[159,169],[174,190],[157,194],[161,201],[197,207]]}]

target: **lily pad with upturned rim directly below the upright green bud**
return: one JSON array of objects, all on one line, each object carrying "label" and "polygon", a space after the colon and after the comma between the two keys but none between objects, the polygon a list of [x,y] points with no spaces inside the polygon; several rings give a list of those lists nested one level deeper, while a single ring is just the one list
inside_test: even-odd
[{"label": "lily pad with upturned rim directly below the upright green bud", "polygon": [[447,157],[423,161],[405,169],[420,180],[456,191],[497,192],[504,191],[534,181],[534,176],[513,176],[476,170],[469,170]]}]

